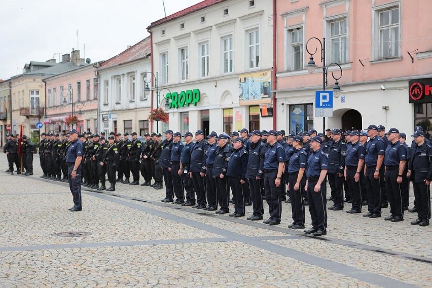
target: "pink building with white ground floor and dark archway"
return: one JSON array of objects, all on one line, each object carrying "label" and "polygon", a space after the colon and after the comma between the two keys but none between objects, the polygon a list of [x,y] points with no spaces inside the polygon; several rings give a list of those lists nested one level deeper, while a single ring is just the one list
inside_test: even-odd
[{"label": "pink building with white ground floor and dark archway", "polygon": [[[321,46],[328,85],[340,78],[326,128],[362,129],[369,124],[411,133],[432,131],[432,17],[428,0],[277,1],[276,103],[278,127],[322,130],[315,91],[322,90]],[[308,73],[309,52],[317,68]],[[430,85],[430,86],[429,86]],[[321,103],[322,104],[322,103]],[[318,103],[319,105],[319,103]],[[324,112],[324,111],[322,111]],[[326,110],[328,112],[328,110]],[[322,114],[321,114],[322,115]]]}]

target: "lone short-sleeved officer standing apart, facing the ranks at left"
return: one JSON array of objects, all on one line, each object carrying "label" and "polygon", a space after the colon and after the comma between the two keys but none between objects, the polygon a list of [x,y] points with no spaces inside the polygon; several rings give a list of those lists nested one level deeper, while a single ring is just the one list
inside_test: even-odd
[{"label": "lone short-sleeved officer standing apart, facing the ranks at left", "polygon": [[81,160],[83,159],[83,143],[78,139],[78,131],[72,129],[69,131],[70,144],[67,149],[66,163],[67,174],[69,176],[69,188],[74,197],[74,207],[69,210],[81,211]]}]

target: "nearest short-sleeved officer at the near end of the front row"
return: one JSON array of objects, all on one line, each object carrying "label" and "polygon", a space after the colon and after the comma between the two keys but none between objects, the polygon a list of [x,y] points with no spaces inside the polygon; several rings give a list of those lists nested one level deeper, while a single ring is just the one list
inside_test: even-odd
[{"label": "nearest short-sleeved officer at the near end of the front row", "polygon": [[322,143],[324,141],[319,136],[311,138],[310,148],[312,154],[309,156],[306,168],[306,190],[312,228],[305,230],[305,233],[314,236],[327,235],[326,175],[329,159],[321,150]]}]

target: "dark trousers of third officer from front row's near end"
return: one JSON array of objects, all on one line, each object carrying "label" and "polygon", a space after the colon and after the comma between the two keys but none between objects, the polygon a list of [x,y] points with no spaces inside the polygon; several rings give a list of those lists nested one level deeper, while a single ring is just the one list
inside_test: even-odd
[{"label": "dark trousers of third officer from front row's near end", "polygon": [[274,181],[277,177],[277,170],[264,170],[264,191],[266,201],[269,205],[270,218],[280,222],[282,214],[282,198],[280,196],[280,187],[276,187]]}]

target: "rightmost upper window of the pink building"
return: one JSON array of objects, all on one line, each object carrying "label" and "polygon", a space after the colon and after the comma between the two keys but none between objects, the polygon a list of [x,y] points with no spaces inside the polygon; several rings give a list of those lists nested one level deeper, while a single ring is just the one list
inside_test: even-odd
[{"label": "rightmost upper window of the pink building", "polygon": [[399,56],[399,8],[379,11],[379,58]]}]

